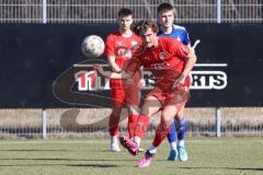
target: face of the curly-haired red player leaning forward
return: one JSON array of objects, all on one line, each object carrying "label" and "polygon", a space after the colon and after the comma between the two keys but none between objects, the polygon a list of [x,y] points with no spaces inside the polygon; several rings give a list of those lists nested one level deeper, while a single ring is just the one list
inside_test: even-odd
[{"label": "face of the curly-haired red player leaning forward", "polygon": [[152,31],[152,28],[148,27],[147,31],[141,34],[141,38],[147,48],[155,48],[157,45],[157,33]]}]

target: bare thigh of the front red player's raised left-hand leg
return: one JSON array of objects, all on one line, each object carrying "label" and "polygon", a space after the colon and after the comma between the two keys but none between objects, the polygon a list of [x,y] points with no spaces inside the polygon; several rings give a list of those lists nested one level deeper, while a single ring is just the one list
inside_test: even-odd
[{"label": "bare thigh of the front red player's raised left-hand leg", "polygon": [[161,107],[161,102],[152,95],[149,95],[145,98],[140,114],[146,115],[146,116],[152,116],[156,114]]}]

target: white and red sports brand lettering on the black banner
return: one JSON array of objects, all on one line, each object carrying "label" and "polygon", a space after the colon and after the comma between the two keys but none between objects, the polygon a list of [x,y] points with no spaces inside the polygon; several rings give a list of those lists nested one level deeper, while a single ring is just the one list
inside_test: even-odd
[{"label": "white and red sports brand lettering on the black banner", "polygon": [[[106,65],[105,65],[106,66]],[[87,68],[92,69],[92,65]],[[156,66],[158,69],[164,69]],[[227,73],[222,70],[227,63],[197,63],[191,71],[191,90],[224,90],[227,86]],[[213,69],[211,69],[213,68]],[[203,69],[203,70],[198,70]],[[96,77],[93,70],[80,71],[75,74],[79,91],[110,90],[110,80]],[[145,83],[141,90],[150,90],[155,85],[155,80],[149,71],[144,72]]]}]

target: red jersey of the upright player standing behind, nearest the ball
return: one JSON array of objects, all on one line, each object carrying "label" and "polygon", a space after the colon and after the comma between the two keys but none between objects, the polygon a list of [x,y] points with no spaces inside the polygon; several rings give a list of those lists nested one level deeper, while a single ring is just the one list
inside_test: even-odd
[{"label": "red jersey of the upright player standing behind, nearest the ball", "polygon": [[[135,34],[130,37],[124,37],[118,31],[114,31],[106,38],[105,55],[107,58],[110,56],[115,56],[115,62],[121,70],[124,70],[134,50],[141,44],[140,37]],[[123,89],[123,80],[110,80],[110,86],[112,89]]]}]

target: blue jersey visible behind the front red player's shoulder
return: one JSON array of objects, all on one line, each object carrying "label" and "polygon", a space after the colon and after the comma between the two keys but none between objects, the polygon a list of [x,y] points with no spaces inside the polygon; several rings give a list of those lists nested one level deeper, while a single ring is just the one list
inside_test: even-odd
[{"label": "blue jersey visible behind the front red player's shoulder", "polygon": [[163,36],[163,37],[172,37],[178,39],[184,45],[190,44],[190,37],[188,37],[188,32],[186,31],[185,27],[180,26],[180,25],[173,25],[173,30],[171,34],[164,34],[161,30],[158,33],[158,36]]}]

